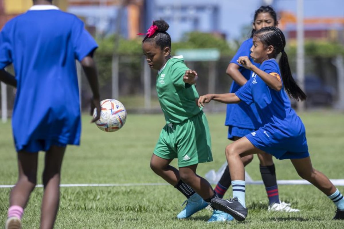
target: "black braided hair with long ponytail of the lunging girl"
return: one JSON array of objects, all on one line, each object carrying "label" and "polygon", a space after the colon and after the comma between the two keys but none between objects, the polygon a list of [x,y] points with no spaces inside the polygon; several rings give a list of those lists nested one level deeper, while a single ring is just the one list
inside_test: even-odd
[{"label": "black braided hair with long ponytail of the lunging girl", "polygon": [[254,33],[254,36],[259,39],[264,45],[265,48],[272,45],[273,58],[276,58],[279,53],[281,54],[281,58],[279,60],[279,67],[281,70],[282,80],[284,84],[284,88],[286,89],[289,96],[296,100],[305,100],[307,98],[306,94],[302,91],[302,89],[297,85],[294,78],[292,77],[288,56],[284,51],[284,47],[286,46],[286,38],[282,31],[273,26],[264,27]]}]

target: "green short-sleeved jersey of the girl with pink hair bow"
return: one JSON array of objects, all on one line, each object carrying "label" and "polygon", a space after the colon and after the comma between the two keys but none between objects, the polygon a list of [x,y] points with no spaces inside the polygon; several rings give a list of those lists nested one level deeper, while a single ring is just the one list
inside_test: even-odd
[{"label": "green short-sleeved jersey of the girl with pink hair bow", "polygon": [[183,76],[189,70],[182,56],[172,57],[159,70],[157,93],[166,123],[182,123],[202,108],[196,105],[198,93],[195,85],[184,83]]}]

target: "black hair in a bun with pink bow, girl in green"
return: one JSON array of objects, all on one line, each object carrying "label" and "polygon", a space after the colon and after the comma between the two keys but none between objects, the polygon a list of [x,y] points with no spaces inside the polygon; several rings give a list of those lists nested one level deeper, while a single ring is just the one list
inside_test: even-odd
[{"label": "black hair in a bun with pink bow, girl in green", "polygon": [[161,49],[166,46],[171,49],[171,36],[166,32],[170,27],[169,24],[167,24],[167,22],[165,22],[164,20],[158,20],[153,21],[153,25],[156,25],[158,27],[158,30],[155,31],[155,33],[150,37],[148,37],[149,34],[147,34],[143,38],[142,43],[146,41],[154,42]]}]

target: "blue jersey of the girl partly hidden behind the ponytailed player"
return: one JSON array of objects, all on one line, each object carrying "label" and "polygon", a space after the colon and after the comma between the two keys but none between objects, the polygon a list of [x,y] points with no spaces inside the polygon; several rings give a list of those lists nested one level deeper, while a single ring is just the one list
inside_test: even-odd
[{"label": "blue jersey of the girl partly hidden behind the ponytailed player", "polygon": [[[230,63],[234,63],[238,65],[238,58],[240,56],[248,56],[251,62],[259,67],[259,64],[253,62],[250,57],[250,48],[252,47],[253,42],[252,38],[247,39],[246,41],[241,44],[240,48],[238,49],[237,53],[234,55],[233,59]],[[250,79],[251,71],[244,68],[243,66],[239,65],[240,73],[247,79]],[[235,93],[241,86],[233,81],[232,85],[230,86],[229,92]],[[260,119],[257,114],[256,107],[254,105],[247,105],[245,103],[238,103],[238,104],[227,104],[227,112],[226,112],[226,126],[236,126],[248,129],[257,129],[260,124]],[[238,136],[243,137],[243,136]]]}]

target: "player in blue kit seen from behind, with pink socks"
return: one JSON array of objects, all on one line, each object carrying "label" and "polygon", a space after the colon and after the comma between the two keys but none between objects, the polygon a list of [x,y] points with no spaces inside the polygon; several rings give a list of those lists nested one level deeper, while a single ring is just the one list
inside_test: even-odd
[{"label": "player in blue kit seen from behind, with pink socks", "polygon": [[[52,0],[35,0],[0,33],[0,80],[17,87],[12,129],[19,178],[10,194],[5,228],[21,218],[37,183],[38,152],[45,151],[40,228],[53,228],[60,198],[61,165],[67,145],[80,142],[80,104],[75,60],[81,62],[100,114],[93,53],[97,44],[75,15]],[[4,68],[13,63],[15,77]],[[99,119],[99,115],[92,122]]]}]

